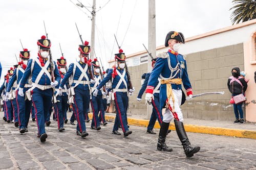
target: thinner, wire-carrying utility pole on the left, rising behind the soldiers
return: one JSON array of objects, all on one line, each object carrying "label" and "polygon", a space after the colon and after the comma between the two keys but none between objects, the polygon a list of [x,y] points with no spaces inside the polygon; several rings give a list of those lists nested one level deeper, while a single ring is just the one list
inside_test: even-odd
[{"label": "thinner, wire-carrying utility pole on the left, rising behind the soldiers", "polygon": [[96,0],[93,0],[92,7],[92,31],[91,31],[91,54],[90,59],[94,59],[94,47],[95,47],[95,17],[96,17]]}]

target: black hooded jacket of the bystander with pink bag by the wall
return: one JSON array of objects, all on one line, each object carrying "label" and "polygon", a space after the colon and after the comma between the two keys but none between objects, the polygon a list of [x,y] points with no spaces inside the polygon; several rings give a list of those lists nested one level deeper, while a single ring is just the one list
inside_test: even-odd
[{"label": "black hooded jacket of the bystander with pink bag by the wall", "polygon": [[[238,67],[235,67],[233,69],[236,69],[237,72],[239,72],[240,74],[240,69]],[[232,69],[232,70],[233,70]],[[243,79],[243,78],[240,78],[238,79],[243,87],[237,82],[237,81],[233,81],[231,84],[230,84],[230,81],[231,81],[231,78],[228,78],[228,81],[227,81],[227,87],[229,89],[229,91],[233,94],[233,95],[237,95],[237,94],[241,94],[243,92],[245,92],[245,90],[247,89],[247,83],[246,81]]]}]

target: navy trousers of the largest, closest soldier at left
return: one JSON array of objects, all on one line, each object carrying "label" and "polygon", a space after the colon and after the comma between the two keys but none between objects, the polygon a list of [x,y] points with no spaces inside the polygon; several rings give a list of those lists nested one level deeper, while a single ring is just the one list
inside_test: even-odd
[{"label": "navy trousers of the largest, closest soldier at left", "polygon": [[40,90],[38,88],[33,89],[32,102],[35,109],[38,136],[46,133],[45,120],[49,114],[50,106],[52,103],[52,94],[52,88],[46,90]]}]

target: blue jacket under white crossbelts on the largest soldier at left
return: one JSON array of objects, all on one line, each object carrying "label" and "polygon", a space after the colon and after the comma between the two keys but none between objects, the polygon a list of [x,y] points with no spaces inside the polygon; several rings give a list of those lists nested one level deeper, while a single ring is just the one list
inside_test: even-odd
[{"label": "blue jacket under white crossbelts on the largest soldier at left", "polygon": [[[28,62],[28,66],[24,72],[24,75],[22,77],[22,80],[20,80],[20,85],[19,87],[20,88],[24,88],[25,84],[27,83],[27,80],[31,74],[31,64],[32,64],[32,61],[33,60],[29,60]],[[54,77],[55,77],[55,81],[58,82],[59,84],[59,81],[60,81],[60,75],[59,75],[59,70],[58,70],[58,67],[54,62],[54,65],[55,65],[55,69],[54,69]],[[46,63],[46,61],[45,61]],[[46,68],[47,70],[49,70],[49,73],[51,74],[51,64],[49,64],[49,66]],[[39,74],[39,72],[41,71],[41,67],[37,64],[37,62],[34,63],[34,68],[33,68],[33,71],[32,71],[32,82],[34,83],[36,78],[37,78],[37,75]],[[51,82],[52,80],[49,79],[49,77],[46,75],[46,74],[43,74],[41,79],[39,80],[38,84],[39,85],[51,85]]]}]

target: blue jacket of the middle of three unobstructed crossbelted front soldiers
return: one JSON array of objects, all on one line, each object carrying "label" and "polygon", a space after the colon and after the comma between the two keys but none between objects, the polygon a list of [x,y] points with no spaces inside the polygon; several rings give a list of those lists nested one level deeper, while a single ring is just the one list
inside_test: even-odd
[{"label": "blue jacket of the middle of three unobstructed crossbelted front soldiers", "polygon": [[[82,68],[86,67],[86,64],[83,64],[81,63],[80,61],[78,61],[78,63],[81,65]],[[60,83],[60,87],[63,88],[63,86],[66,84],[66,82],[68,81],[69,77],[71,75],[73,75],[73,68],[74,68],[74,63],[70,64],[69,65],[69,70],[68,72],[65,74],[64,78],[62,79],[61,83]],[[78,80],[80,75],[82,74],[82,72],[80,71],[80,69],[76,66],[76,70],[75,70],[75,74],[73,75],[73,80]],[[90,74],[89,74],[89,68],[86,72],[89,80],[86,80],[85,77],[82,78],[82,81],[90,81],[91,78],[90,78]],[[71,86],[75,86],[76,83],[72,83]],[[80,89],[80,90],[89,90],[89,85],[88,84],[79,84],[78,86],[76,86],[77,89]]]}]

